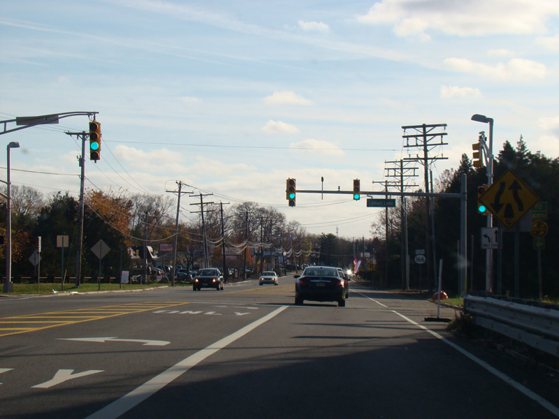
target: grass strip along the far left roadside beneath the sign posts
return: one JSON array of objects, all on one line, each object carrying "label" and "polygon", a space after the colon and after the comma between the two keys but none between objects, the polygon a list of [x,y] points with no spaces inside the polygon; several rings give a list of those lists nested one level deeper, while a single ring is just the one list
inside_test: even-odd
[{"label": "grass strip along the far left roadside beneath the sign posts", "polygon": [[[64,284],[64,289],[61,284],[41,283],[37,291],[37,284],[13,284],[13,293],[2,293],[3,295],[20,295],[20,294],[52,294],[52,291],[60,293],[89,293],[93,291],[117,291],[117,290],[143,290],[147,288],[155,288],[157,286],[169,286],[170,284],[158,284],[157,282],[150,284],[80,284],[79,288],[75,284]],[[176,284],[175,285],[179,285]]]}]

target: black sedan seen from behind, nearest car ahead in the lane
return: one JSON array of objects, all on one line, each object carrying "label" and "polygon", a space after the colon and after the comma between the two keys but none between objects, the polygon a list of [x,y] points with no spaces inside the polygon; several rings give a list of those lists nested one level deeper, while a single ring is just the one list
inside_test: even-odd
[{"label": "black sedan seen from behind, nearest car ahead in the lane", "polygon": [[302,305],[304,300],[337,301],[339,307],[345,307],[349,282],[340,277],[335,267],[305,267],[303,274],[295,278],[295,304]]}]

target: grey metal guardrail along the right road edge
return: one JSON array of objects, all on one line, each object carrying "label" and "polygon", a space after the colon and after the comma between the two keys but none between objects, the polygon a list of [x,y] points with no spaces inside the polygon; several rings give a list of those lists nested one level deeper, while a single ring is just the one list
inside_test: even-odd
[{"label": "grey metal guardrail along the right road edge", "polygon": [[475,324],[559,358],[559,309],[465,295],[464,310]]}]

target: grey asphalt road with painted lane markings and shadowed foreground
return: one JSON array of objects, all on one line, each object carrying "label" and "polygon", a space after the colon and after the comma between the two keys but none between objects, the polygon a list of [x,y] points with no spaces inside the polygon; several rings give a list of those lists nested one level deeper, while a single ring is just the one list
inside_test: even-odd
[{"label": "grey asphalt road with painted lane markings and shadowed foreground", "polygon": [[435,304],[351,284],[299,307],[293,282],[2,298],[0,418],[559,417],[557,377]]}]

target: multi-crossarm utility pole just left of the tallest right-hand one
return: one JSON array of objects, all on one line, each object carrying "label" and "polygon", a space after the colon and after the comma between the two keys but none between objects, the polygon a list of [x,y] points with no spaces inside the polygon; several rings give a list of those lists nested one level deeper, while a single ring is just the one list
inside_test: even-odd
[{"label": "multi-crossarm utility pole just left of the tallest right-hand one", "polygon": [[[391,168],[385,168],[388,172],[386,177],[393,177],[394,179],[400,179],[400,184],[397,185],[400,192],[405,192],[407,188],[416,187],[416,184],[407,184],[407,178],[416,177],[416,166],[409,167],[407,161],[404,163],[402,159],[400,161],[385,161],[384,162],[393,164]],[[405,179],[406,178],[406,179]],[[407,210],[406,210],[406,199],[405,196],[400,197],[400,224],[402,231],[402,289],[409,289],[409,251],[407,246]]]}]

